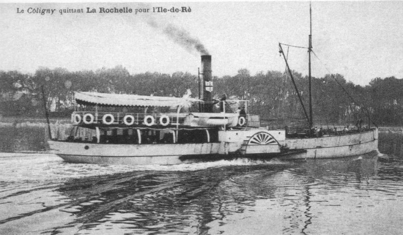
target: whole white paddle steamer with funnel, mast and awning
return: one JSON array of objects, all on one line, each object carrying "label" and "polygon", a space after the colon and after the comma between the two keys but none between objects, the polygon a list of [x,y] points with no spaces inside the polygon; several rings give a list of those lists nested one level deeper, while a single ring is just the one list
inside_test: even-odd
[{"label": "whole white paddle steamer with funnel, mast and awning", "polygon": [[[223,157],[323,159],[377,153],[377,128],[312,132],[311,51],[309,35],[310,115],[295,86],[309,122],[302,133],[260,127],[259,116],[247,114],[247,101],[214,100],[211,55],[202,55],[202,98],[76,92],[74,128],[66,139],[50,139],[50,148],[66,162],[131,165],[171,165]],[[215,110],[218,104],[220,109]],[[244,107],[245,113],[234,113],[230,108],[234,104]],[[89,130],[87,134],[82,134],[83,129]]]}]

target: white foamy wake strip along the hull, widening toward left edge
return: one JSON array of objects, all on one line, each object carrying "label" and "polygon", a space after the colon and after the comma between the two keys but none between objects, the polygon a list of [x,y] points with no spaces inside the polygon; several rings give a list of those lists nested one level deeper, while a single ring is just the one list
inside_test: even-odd
[{"label": "white foamy wake strip along the hull, widening toward left edge", "polygon": [[64,181],[99,175],[110,175],[135,171],[197,171],[227,166],[289,166],[292,163],[280,159],[255,160],[247,158],[217,161],[194,161],[179,165],[96,165],[63,162],[51,153],[0,153],[2,182]]}]

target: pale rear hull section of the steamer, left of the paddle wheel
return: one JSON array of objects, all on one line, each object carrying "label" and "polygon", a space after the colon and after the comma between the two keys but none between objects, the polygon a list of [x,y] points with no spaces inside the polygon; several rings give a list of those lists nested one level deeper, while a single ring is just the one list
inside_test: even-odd
[{"label": "pale rear hull section of the steamer, left of the paddle wheel", "polygon": [[48,141],[52,152],[70,163],[174,165],[186,163],[181,156],[214,155],[220,143],[186,144],[99,144],[85,142]]}]

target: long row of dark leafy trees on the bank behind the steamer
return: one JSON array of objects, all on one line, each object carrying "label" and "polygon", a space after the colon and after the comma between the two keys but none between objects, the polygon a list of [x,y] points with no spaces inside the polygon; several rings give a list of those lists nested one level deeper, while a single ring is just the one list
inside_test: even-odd
[{"label": "long row of dark leafy trees on the bank behind the steamer", "polygon": [[[306,109],[308,78],[293,71]],[[216,98],[250,100],[250,113],[266,119],[304,119],[302,106],[289,75],[279,71],[251,75],[240,69],[235,76],[214,77]],[[39,68],[34,74],[0,71],[1,109],[4,116],[42,115],[43,87],[48,108],[69,113],[74,91],[97,91],[154,96],[183,96],[188,89],[198,97],[196,75],[183,72],[164,74],[146,72],[130,74],[124,67],[96,71],[68,71],[63,68]],[[403,124],[403,80],[395,77],[376,78],[365,87],[347,82],[340,74],[312,79],[315,122],[333,124],[356,122],[359,119],[378,124]]]}]

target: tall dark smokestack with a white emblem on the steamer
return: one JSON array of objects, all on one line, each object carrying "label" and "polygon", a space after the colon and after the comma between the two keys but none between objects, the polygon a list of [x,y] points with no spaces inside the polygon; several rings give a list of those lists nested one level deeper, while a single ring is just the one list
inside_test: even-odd
[{"label": "tall dark smokestack with a white emblem on the steamer", "polygon": [[211,72],[211,55],[201,56],[201,74],[203,76],[203,100],[206,102],[203,112],[213,112],[213,81]]}]

